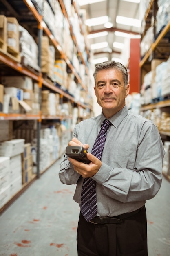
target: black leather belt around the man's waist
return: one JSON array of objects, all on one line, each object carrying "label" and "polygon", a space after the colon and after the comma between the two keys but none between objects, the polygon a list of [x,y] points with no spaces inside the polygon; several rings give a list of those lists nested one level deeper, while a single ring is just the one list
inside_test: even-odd
[{"label": "black leather belt around the man's waist", "polygon": [[115,223],[121,223],[122,220],[131,217],[133,215],[135,215],[136,213],[138,213],[139,211],[142,210],[144,206],[142,206],[141,208],[129,212],[129,213],[123,213],[114,217],[99,217],[99,216],[95,216],[93,219],[89,220],[89,222],[93,223],[93,224],[115,224]]}]

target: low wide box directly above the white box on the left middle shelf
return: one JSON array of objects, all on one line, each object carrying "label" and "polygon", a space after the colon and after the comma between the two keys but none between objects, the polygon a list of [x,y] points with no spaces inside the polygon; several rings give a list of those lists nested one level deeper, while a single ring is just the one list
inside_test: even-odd
[{"label": "low wide box directly above the white box on the left middle shelf", "polygon": [[20,89],[33,90],[33,80],[28,76],[3,76],[2,84],[4,86],[16,86]]}]

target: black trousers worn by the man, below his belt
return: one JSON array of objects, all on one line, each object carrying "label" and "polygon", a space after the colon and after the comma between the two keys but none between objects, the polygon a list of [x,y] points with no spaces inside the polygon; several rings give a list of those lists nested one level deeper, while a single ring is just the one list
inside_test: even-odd
[{"label": "black trousers worn by the man, below his belt", "polygon": [[146,209],[117,224],[86,222],[77,229],[78,256],[147,256]]}]

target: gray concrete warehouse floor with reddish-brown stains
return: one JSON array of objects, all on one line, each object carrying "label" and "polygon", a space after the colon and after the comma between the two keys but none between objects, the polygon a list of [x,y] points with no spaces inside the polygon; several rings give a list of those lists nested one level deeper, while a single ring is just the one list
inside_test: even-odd
[{"label": "gray concrete warehouse floor with reddish-brown stains", "polygon": [[[75,185],[58,178],[58,160],[0,216],[0,256],[77,256]],[[146,203],[148,256],[170,256],[170,182]]]}]

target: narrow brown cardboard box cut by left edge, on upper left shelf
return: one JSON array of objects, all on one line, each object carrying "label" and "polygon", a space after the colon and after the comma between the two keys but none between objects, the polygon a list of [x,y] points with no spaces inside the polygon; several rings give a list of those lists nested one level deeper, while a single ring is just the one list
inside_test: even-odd
[{"label": "narrow brown cardboard box cut by left edge, on upper left shelf", "polygon": [[7,52],[7,17],[0,15],[0,48]]}]

